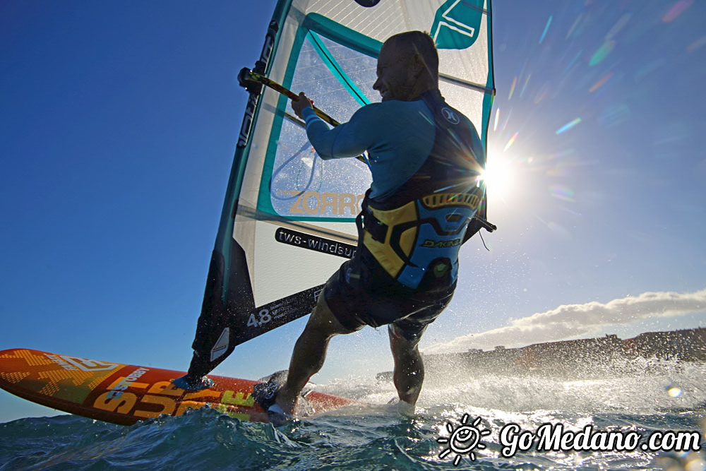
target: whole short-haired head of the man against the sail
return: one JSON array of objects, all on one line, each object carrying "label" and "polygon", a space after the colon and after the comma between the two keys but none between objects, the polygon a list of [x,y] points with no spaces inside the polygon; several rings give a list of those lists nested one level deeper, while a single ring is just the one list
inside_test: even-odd
[{"label": "whole short-haired head of the man against the sail", "polygon": [[438,88],[438,54],[426,32],[400,32],[388,38],[378,56],[373,89],[387,100],[412,101]]}]

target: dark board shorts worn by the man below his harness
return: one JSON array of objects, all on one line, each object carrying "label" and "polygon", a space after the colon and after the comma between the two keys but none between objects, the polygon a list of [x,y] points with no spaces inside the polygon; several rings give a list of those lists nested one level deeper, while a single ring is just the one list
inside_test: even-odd
[{"label": "dark board shorts worn by the man below his harness", "polygon": [[[392,323],[407,340],[419,340],[451,301],[455,283],[412,291],[389,277],[385,280],[374,266],[361,266],[357,256],[343,263],[326,282],[323,295],[333,315],[350,330]],[[352,273],[359,273],[359,279],[352,282]]]}]

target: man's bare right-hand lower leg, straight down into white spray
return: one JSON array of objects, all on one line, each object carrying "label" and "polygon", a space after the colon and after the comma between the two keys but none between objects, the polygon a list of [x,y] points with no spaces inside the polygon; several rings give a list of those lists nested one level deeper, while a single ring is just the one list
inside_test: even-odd
[{"label": "man's bare right-hand lower leg, straight down into white spray", "polygon": [[393,381],[397,395],[400,400],[411,405],[413,410],[421,393],[421,384],[424,383],[424,362],[419,353],[419,339],[407,340],[398,333],[394,324],[388,326],[388,333],[395,360]]}]

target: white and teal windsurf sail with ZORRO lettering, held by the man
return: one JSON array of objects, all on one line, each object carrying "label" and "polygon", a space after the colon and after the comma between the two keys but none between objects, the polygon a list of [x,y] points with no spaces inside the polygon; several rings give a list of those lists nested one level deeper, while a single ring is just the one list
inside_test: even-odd
[{"label": "white and teal windsurf sail with ZORRO lettering, held by the man", "polygon": [[[305,91],[340,122],[379,101],[383,42],[423,30],[436,42],[440,89],[486,145],[494,95],[490,0],[280,0],[253,72]],[[289,100],[248,83],[249,101],[208,271],[189,376],[237,345],[309,314],[357,245],[371,183],[365,162],[321,160]],[[486,205],[479,214],[485,217]]]}]

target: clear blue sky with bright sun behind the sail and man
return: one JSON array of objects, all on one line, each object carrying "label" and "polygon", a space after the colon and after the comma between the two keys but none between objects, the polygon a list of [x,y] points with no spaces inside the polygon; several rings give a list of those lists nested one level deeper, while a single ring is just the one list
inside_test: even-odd
[{"label": "clear blue sky with bright sun behind the sail and man", "polygon": [[[235,78],[274,4],[2,3],[0,350],[186,369],[247,97]],[[422,347],[592,302],[618,309],[534,331],[706,326],[706,5],[493,7],[499,229],[489,252],[464,246],[462,289]],[[302,327],[237,347],[215,373],[286,367]],[[385,329],[369,328],[333,340],[314,379],[391,364]],[[0,422],[53,413],[0,392]]]}]

